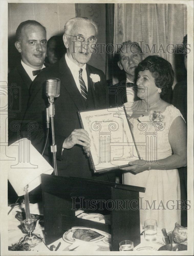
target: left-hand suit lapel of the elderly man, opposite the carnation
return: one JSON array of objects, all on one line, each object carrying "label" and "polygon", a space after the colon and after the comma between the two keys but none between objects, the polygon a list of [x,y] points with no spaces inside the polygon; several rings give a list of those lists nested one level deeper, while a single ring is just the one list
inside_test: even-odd
[{"label": "left-hand suit lapel of the elderly man, opposite the carnation", "polygon": [[62,74],[61,83],[68,91],[70,97],[74,101],[79,110],[83,109],[82,96],[76,86],[76,82],[72,76],[72,73],[67,66],[67,62],[64,56],[59,61],[59,72]]}]

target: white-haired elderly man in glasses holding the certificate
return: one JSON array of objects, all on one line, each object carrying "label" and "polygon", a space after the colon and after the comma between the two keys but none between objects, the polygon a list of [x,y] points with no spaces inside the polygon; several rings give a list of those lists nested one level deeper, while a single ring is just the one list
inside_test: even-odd
[{"label": "white-haired elderly man in glasses holding the certificate", "polygon": [[[83,147],[90,144],[88,133],[81,129],[78,111],[106,107],[106,80],[104,73],[87,64],[96,43],[96,24],[83,17],[68,20],[64,27],[63,41],[67,53],[58,62],[45,68],[31,87],[29,109],[25,119],[38,122],[39,129],[31,134],[31,142],[42,151],[46,117],[42,85],[49,77],[61,80],[60,96],[55,99],[55,143],[57,145],[57,171],[60,176],[115,181],[114,174],[94,175]],[[93,82],[91,74],[100,81]],[[44,91],[44,89],[43,89]],[[43,98],[45,98],[45,91]],[[84,148],[85,149],[85,148]],[[111,178],[110,178],[110,176]]]}]

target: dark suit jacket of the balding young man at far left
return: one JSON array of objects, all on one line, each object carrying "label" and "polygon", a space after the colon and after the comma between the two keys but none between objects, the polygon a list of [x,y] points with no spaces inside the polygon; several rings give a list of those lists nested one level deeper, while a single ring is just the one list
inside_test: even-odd
[{"label": "dark suit jacket of the balding young man at far left", "polygon": [[27,103],[29,100],[29,88],[32,80],[26,73],[21,63],[8,73],[8,141],[17,140],[17,132],[13,129],[13,122],[19,125],[24,119]]}]

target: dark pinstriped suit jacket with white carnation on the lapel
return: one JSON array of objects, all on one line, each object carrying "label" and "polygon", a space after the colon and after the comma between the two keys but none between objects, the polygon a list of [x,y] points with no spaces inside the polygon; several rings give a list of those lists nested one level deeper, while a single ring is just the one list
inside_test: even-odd
[{"label": "dark pinstriped suit jacket with white carnation on the lapel", "polygon": [[[64,149],[62,145],[74,129],[80,129],[78,111],[89,110],[92,108],[100,109],[106,107],[106,80],[104,73],[90,65],[86,65],[88,76],[88,94],[89,102],[83,100],[76,83],[73,79],[70,69],[67,66],[64,56],[61,60],[50,67],[45,68],[34,80],[31,86],[31,97],[29,106],[25,115],[25,120],[35,120],[38,123],[38,130],[31,133],[31,142],[39,152],[45,139],[45,102],[48,98],[45,96],[45,81],[50,77],[56,77],[61,80],[60,96],[55,98],[55,144],[57,145],[57,170],[60,176],[73,176],[82,178],[94,178],[90,169],[89,159],[83,152],[82,146],[75,145],[71,149]],[[100,81],[95,83],[90,78],[90,74],[98,74]],[[95,88],[95,90],[94,90]],[[48,150],[49,152],[50,150]],[[103,179],[103,177],[106,177]],[[107,180],[107,175],[101,174],[99,179]]]}]

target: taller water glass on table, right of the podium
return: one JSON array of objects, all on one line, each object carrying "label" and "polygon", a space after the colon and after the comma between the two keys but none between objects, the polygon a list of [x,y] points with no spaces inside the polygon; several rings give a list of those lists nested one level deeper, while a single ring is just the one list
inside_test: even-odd
[{"label": "taller water glass on table, right of the podium", "polygon": [[148,242],[156,241],[157,239],[157,220],[149,219],[144,221],[144,236]]}]

